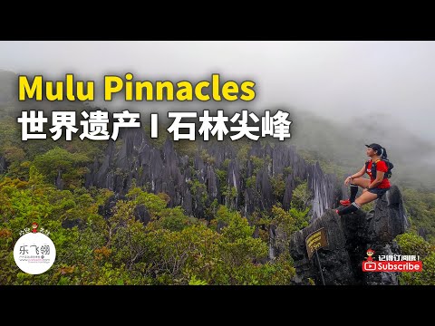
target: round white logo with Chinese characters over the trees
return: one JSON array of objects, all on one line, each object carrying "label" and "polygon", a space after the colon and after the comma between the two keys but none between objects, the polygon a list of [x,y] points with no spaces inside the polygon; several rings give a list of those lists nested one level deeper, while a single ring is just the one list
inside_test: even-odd
[{"label": "round white logo with Chinese characters over the trees", "polygon": [[40,232],[21,236],[14,246],[15,264],[24,273],[45,273],[53,266],[55,259],[53,241]]}]

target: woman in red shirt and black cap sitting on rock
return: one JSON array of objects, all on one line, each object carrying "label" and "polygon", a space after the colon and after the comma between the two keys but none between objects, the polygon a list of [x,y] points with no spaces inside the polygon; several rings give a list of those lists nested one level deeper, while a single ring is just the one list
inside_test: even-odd
[{"label": "woman in red shirt and black cap sitting on rock", "polygon": [[[362,169],[346,177],[344,184],[351,184],[351,197],[347,200],[340,200],[340,204],[344,207],[336,209],[339,216],[353,213],[361,208],[362,205],[372,202],[377,198],[381,198],[390,188],[391,168],[392,164],[388,161],[387,151],[379,144],[365,145],[367,147],[367,156],[371,159],[367,160]],[[367,173],[370,177],[362,177]],[[355,199],[358,192],[358,187],[362,187],[362,195]]]}]

